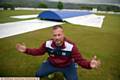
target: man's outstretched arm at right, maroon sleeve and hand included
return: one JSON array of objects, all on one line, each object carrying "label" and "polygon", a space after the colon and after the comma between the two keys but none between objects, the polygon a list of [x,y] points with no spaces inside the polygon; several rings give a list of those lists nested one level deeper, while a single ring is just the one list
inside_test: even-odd
[{"label": "man's outstretched arm at right, maroon sleeve and hand included", "polygon": [[90,61],[84,59],[76,46],[73,47],[72,57],[75,62],[83,68],[92,69],[97,68],[100,65],[100,60],[97,60],[96,56],[94,56]]}]

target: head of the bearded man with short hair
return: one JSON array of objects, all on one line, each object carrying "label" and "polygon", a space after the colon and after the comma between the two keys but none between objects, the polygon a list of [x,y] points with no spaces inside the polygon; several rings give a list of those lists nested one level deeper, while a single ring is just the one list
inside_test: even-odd
[{"label": "head of the bearded man with short hair", "polygon": [[61,46],[64,41],[64,31],[61,25],[53,26],[53,40],[57,46]]}]

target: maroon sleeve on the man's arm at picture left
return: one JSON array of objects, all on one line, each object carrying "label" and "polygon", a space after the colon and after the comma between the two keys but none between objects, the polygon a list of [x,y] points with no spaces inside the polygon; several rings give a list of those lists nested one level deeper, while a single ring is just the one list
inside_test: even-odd
[{"label": "maroon sleeve on the man's arm at picture left", "polygon": [[25,53],[33,56],[43,55],[46,52],[45,42],[39,48],[27,48]]}]

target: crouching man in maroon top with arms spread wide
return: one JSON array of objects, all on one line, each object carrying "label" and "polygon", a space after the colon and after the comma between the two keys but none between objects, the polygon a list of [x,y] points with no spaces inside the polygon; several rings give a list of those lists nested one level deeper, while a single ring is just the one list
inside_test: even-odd
[{"label": "crouching man in maroon top with arms spread wide", "polygon": [[97,68],[100,61],[96,56],[91,61],[84,59],[76,45],[65,38],[62,26],[52,28],[52,39],[45,41],[40,48],[27,48],[24,44],[17,44],[18,51],[30,55],[43,55],[46,52],[49,57],[36,73],[36,77],[47,76],[53,72],[62,72],[66,80],[78,80],[75,63],[86,69]]}]

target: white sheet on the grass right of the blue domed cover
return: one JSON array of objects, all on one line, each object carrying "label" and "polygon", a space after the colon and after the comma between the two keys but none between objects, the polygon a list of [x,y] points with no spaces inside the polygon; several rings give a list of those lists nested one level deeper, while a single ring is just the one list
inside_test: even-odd
[{"label": "white sheet on the grass right of the blue domed cover", "polygon": [[90,15],[84,15],[84,16],[65,18],[64,21],[67,21],[71,24],[101,28],[104,18],[105,16],[98,16],[95,14],[90,14]]}]

